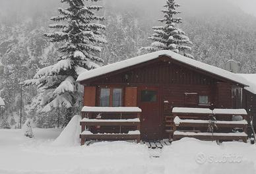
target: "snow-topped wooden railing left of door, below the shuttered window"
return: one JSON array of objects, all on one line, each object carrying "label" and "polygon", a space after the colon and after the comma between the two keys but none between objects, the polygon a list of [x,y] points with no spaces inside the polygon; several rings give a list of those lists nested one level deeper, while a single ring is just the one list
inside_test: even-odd
[{"label": "snow-topped wooden railing left of door, below the shuttered window", "polygon": [[83,107],[81,145],[87,140],[141,140],[139,107]]}]

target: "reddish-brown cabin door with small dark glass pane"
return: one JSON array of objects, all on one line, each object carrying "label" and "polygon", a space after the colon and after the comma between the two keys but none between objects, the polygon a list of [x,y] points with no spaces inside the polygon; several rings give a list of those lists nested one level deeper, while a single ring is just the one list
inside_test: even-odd
[{"label": "reddish-brown cabin door with small dark glass pane", "polygon": [[160,139],[159,88],[140,87],[138,106],[141,114],[141,138],[144,140]]}]

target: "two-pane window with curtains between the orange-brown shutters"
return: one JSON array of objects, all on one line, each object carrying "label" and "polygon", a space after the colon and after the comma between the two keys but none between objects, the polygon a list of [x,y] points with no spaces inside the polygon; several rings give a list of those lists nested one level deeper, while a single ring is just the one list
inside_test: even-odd
[{"label": "two-pane window with curtains between the orange-brown shutters", "polygon": [[120,107],[122,105],[121,88],[101,88],[100,89],[100,106],[102,107]]}]

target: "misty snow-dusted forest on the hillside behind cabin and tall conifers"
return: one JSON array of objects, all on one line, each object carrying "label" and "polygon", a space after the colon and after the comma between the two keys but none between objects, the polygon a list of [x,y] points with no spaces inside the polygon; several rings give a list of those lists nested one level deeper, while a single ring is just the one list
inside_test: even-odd
[{"label": "misty snow-dusted forest on the hillside behind cabin and tall conifers", "polygon": [[[256,73],[256,17],[242,11],[230,1],[180,0],[179,24],[193,43],[194,59],[224,68],[233,59],[242,73]],[[214,3],[213,3],[214,2]],[[90,3],[88,1],[87,3]],[[104,16],[104,35],[108,44],[98,55],[107,65],[141,55],[141,47],[150,45],[148,36],[152,27],[162,18],[165,1],[118,1],[103,0],[99,15]],[[4,117],[11,127],[19,125],[20,109],[22,123],[31,118],[36,127],[64,127],[69,121],[67,109],[59,107],[41,112],[36,106],[36,86],[23,86],[39,69],[57,63],[58,44],[44,37],[57,15],[59,1],[3,0],[0,6],[0,97],[6,107]],[[65,6],[64,6],[65,7]],[[22,92],[22,95],[21,95]],[[20,108],[21,107],[21,108]],[[79,109],[77,111],[79,113]],[[0,123],[3,117],[0,118]]]}]

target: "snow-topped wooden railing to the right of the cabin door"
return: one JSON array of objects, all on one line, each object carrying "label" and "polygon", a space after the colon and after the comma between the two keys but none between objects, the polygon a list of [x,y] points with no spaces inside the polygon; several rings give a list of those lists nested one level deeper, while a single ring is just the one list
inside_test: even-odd
[{"label": "snow-topped wooden railing to the right of the cabin door", "polygon": [[[247,112],[245,109],[205,109],[175,107],[174,133],[172,138],[178,140],[183,137],[193,137],[201,140],[243,140],[247,141]],[[189,115],[194,115],[193,119]],[[197,117],[195,117],[197,115]],[[216,129],[214,132],[207,132],[210,115],[220,119],[214,121]],[[234,121],[234,117],[240,120]],[[195,118],[195,119],[194,119]],[[180,129],[180,130],[177,130]],[[233,129],[240,129],[242,132],[232,132]]]}]

